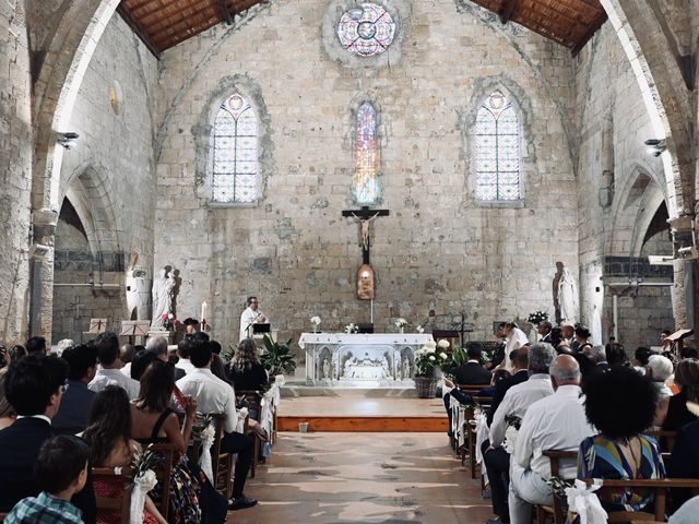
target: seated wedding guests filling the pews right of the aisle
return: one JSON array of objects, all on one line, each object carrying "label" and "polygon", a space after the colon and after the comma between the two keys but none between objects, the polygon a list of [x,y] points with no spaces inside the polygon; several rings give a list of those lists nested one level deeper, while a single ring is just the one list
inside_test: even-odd
[{"label": "seated wedding guests filling the pews right of the aisle", "polygon": [[[459,377],[454,370],[453,378],[443,380],[448,410],[453,400],[473,405],[476,395],[491,396],[489,438],[481,443],[495,515],[486,524],[530,524],[534,507],[553,504],[545,451],[578,455],[559,464],[559,478],[568,481],[678,478],[698,479],[699,487],[699,360],[694,348],[639,347],[629,359],[621,344],[596,344],[583,325],[546,322],[537,331],[545,342],[529,345],[508,338],[519,336],[514,330],[499,329],[502,347],[490,356],[482,357],[481,345],[470,343],[467,365],[458,368]],[[664,332],[663,342],[667,336]],[[508,358],[505,347],[514,348]],[[494,356],[495,365],[488,358]],[[505,374],[490,376],[498,368]],[[491,388],[475,393],[471,386],[487,379]],[[512,443],[506,434],[513,425],[518,437]],[[596,495],[607,513],[653,513],[654,492],[602,487]],[[676,512],[670,522],[699,522],[699,497],[692,499],[690,490],[672,489],[663,503],[666,515]],[[570,513],[568,522],[580,519]]]}]

